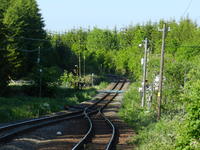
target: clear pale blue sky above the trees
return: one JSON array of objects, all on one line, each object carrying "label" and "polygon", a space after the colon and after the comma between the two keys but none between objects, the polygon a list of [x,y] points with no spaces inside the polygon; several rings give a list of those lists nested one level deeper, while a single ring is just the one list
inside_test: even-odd
[{"label": "clear pale blue sky above the trees", "polygon": [[[200,24],[200,0],[37,0],[46,29],[121,28],[183,15]],[[189,5],[191,4],[191,5]],[[190,7],[188,7],[190,6]],[[188,9],[187,9],[188,8]],[[186,12],[185,12],[186,11]]]}]

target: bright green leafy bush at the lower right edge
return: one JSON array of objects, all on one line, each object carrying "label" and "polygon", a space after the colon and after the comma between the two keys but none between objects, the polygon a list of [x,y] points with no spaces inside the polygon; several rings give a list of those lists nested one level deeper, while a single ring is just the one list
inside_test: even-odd
[{"label": "bright green leafy bush at the lower right edge", "polygon": [[177,149],[200,149],[200,80],[191,81],[185,87],[183,100],[187,103],[186,117],[179,130]]}]

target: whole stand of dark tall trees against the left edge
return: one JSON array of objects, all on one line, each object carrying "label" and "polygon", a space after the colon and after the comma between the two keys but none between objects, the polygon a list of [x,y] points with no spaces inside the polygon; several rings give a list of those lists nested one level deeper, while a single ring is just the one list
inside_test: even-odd
[{"label": "whole stand of dark tall trees against the left edge", "polygon": [[[26,77],[36,66],[37,53],[45,39],[44,23],[35,0],[0,1],[0,93],[11,79]],[[29,39],[29,40],[28,40]]]}]

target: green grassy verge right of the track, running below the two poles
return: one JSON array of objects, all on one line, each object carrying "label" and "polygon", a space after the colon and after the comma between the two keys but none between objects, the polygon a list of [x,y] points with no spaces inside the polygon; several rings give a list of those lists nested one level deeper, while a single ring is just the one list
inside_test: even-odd
[{"label": "green grassy verge right of the track, running below the two poles", "polygon": [[132,143],[138,150],[174,150],[181,117],[163,114],[156,120],[155,104],[150,111],[141,108],[139,83],[134,83],[125,93],[120,116],[133,127],[136,135]]}]

